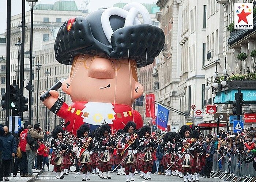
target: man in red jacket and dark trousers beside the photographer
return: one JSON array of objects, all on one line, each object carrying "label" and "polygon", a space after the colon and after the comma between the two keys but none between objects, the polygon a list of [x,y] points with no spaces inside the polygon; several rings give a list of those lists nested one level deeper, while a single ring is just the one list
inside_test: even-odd
[{"label": "man in red jacket and dark trousers beside the photographer", "polygon": [[32,126],[28,125],[26,129],[24,129],[20,133],[20,143],[19,147],[22,153],[21,163],[20,163],[20,177],[27,177],[27,155],[26,155],[26,145],[27,145],[27,130],[31,129]]}]

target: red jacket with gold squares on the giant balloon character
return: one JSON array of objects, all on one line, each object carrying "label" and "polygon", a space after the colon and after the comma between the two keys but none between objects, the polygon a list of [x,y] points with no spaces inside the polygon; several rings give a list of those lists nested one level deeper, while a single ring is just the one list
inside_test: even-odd
[{"label": "red jacket with gold squares on the giant balloon character", "polygon": [[[84,117],[89,117],[90,112],[83,112],[83,109],[86,108],[87,102],[73,102],[70,106],[68,106],[61,99],[57,100],[53,107],[50,109],[53,113],[56,112],[56,115],[63,118],[65,120],[65,129],[72,132],[76,136],[76,130],[79,129],[81,125],[84,123]],[[102,103],[102,105],[105,103]],[[97,109],[93,109],[95,117],[95,121],[89,121],[91,131],[95,130],[98,126],[100,126],[104,119],[109,120],[113,118],[113,124],[110,124],[111,129],[118,130],[123,129],[128,121],[134,121],[137,126],[136,129],[139,129],[143,126],[143,120],[140,113],[136,110],[133,110],[131,106],[122,105],[122,104],[113,104],[113,111],[109,112],[106,116],[101,115],[101,113],[95,114]],[[90,108],[87,108],[90,110]],[[97,112],[96,112],[97,113]],[[115,113],[115,114],[113,114]],[[96,116],[97,115],[97,116]],[[105,117],[105,118],[104,118]]]}]

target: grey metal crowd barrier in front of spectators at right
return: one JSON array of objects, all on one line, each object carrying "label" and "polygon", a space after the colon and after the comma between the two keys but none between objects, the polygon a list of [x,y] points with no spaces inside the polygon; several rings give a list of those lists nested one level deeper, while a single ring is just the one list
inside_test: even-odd
[{"label": "grey metal crowd barrier in front of spectators at right", "polygon": [[229,182],[256,182],[256,171],[251,163],[245,163],[247,154],[235,153],[221,156],[215,151],[211,177]]}]

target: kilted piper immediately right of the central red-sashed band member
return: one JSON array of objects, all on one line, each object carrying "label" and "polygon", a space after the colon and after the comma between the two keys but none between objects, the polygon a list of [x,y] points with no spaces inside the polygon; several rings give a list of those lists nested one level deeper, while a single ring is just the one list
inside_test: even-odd
[{"label": "kilted piper immediately right of the central red-sashed band member", "polygon": [[151,179],[151,171],[153,168],[153,152],[158,147],[157,141],[151,136],[151,128],[146,125],[140,128],[139,142],[141,145],[141,152],[138,153],[138,166],[140,166],[140,171],[143,172],[143,179]]}]

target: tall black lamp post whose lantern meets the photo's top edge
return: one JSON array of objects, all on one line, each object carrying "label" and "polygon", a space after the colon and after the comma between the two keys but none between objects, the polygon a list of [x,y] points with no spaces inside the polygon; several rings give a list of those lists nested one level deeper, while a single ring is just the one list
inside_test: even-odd
[{"label": "tall black lamp post whose lantern meets the photo's top edge", "polygon": [[26,0],[29,2],[29,6],[31,7],[31,13],[30,13],[30,65],[29,65],[29,124],[31,124],[31,114],[32,114],[32,63],[33,63],[33,7],[35,6],[35,3],[38,2],[38,0]]}]

